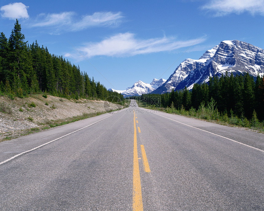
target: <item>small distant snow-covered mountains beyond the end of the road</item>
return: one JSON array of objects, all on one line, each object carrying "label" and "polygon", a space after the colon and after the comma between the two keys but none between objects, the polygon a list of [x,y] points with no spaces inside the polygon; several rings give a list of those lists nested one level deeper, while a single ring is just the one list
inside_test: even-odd
[{"label": "small distant snow-covered mountains beyond the end of the road", "polygon": [[142,82],[142,81],[138,81],[138,82],[135,82],[133,86],[127,87],[126,90],[114,90],[114,89],[109,89],[109,90],[121,93],[124,95],[124,97],[139,96],[139,95],[148,94],[154,91],[159,86],[161,86],[165,81],[166,81],[165,79],[159,79],[159,80],[153,79],[153,81],[150,84]]}]

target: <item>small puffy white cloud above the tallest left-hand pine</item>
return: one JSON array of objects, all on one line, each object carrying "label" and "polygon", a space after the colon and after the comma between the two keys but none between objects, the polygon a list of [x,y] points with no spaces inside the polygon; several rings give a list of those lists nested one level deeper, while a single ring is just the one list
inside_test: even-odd
[{"label": "small puffy white cloud above the tallest left-hand pine", "polygon": [[3,12],[2,17],[7,17],[10,19],[17,18],[29,18],[27,11],[28,6],[25,6],[23,3],[10,3],[8,5],[2,6],[0,10]]}]

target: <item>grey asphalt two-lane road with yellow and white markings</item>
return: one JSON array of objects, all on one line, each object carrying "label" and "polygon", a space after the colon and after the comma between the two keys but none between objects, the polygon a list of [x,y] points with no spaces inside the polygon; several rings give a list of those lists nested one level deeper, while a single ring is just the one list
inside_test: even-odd
[{"label": "grey asphalt two-lane road with yellow and white markings", "polygon": [[264,135],[131,101],[1,142],[0,210],[264,210]]}]

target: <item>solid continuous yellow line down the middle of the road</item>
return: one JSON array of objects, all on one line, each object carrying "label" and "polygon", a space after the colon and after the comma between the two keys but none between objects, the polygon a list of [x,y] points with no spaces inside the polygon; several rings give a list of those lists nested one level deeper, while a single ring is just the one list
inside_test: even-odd
[{"label": "solid continuous yellow line down the middle of the road", "polygon": [[138,164],[137,129],[134,111],[134,158],[133,158],[133,211],[143,211],[141,183]]}]

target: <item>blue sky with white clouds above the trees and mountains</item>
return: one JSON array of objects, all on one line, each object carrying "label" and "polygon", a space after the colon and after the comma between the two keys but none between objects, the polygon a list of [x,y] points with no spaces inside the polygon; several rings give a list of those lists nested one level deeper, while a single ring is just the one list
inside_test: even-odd
[{"label": "blue sky with white clouds above the trees and mountains", "polygon": [[7,38],[17,18],[29,44],[37,40],[107,89],[168,79],[223,40],[264,48],[264,0],[2,0],[0,14]]}]

